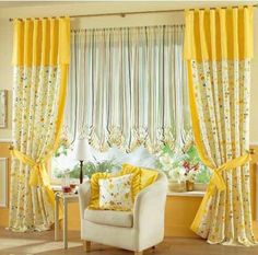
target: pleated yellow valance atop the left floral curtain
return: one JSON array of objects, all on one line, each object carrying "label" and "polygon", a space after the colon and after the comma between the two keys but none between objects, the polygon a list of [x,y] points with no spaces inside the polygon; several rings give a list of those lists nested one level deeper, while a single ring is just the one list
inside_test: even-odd
[{"label": "pleated yellow valance atop the left floral curtain", "polygon": [[14,21],[14,66],[56,66],[70,62],[70,19]]}]

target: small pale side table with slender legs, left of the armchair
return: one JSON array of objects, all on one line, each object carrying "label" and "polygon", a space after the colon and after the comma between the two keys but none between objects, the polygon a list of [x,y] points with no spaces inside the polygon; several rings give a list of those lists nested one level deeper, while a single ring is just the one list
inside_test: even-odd
[{"label": "small pale side table with slender legs, left of the armchair", "polygon": [[63,194],[62,192],[57,192],[55,194],[55,241],[59,240],[59,204],[62,200],[63,207],[63,247],[68,248],[68,204],[78,202],[78,194]]}]

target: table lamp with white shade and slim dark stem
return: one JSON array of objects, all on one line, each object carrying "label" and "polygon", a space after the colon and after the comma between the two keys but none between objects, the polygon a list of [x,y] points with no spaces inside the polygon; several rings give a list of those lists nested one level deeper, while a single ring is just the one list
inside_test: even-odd
[{"label": "table lamp with white shade and slim dark stem", "polygon": [[74,146],[74,159],[80,161],[80,184],[83,183],[83,161],[89,160],[89,142],[86,138],[78,139]]}]

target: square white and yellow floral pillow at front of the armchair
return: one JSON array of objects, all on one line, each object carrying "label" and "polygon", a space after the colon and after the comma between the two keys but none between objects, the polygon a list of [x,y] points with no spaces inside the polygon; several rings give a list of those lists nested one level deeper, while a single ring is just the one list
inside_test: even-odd
[{"label": "square white and yellow floral pillow at front of the armchair", "polygon": [[132,174],[99,178],[99,208],[128,211],[132,209]]}]

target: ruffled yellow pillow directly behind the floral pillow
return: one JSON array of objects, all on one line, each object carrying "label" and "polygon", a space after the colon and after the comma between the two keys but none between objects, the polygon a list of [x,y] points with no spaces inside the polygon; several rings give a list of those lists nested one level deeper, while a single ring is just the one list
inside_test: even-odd
[{"label": "ruffled yellow pillow directly behind the floral pillow", "polygon": [[116,174],[109,174],[109,173],[95,173],[91,177],[91,201],[89,205],[89,209],[101,209],[99,207],[99,179],[107,179],[112,177],[118,177],[122,175],[131,174],[131,194],[132,194],[132,202],[134,201],[134,198],[140,190],[141,185],[141,171],[137,169],[126,169],[121,170]]}]

